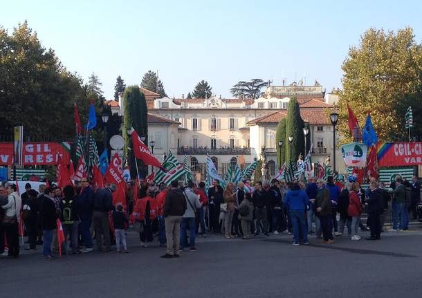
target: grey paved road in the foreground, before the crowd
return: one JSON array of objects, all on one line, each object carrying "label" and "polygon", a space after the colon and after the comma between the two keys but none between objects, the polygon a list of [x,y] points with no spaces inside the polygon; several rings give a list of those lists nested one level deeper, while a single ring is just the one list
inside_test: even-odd
[{"label": "grey paved road in the foreground, before the crowd", "polygon": [[[134,235],[130,241],[137,244]],[[210,236],[197,246],[179,259],[160,259],[163,248],[131,247],[129,254],[0,260],[1,297],[422,297],[421,230],[333,245],[311,238],[299,247],[287,235]]]}]

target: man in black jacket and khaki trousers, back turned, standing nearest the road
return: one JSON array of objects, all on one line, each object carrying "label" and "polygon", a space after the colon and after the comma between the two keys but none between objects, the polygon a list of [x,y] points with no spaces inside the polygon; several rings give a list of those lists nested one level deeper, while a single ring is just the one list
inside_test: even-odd
[{"label": "man in black jacket and khaki trousers, back turned, standing nearest the road", "polygon": [[172,189],[167,192],[164,203],[165,236],[167,239],[167,250],[161,256],[164,259],[179,257],[181,218],[185,214],[186,209],[185,196],[178,187],[178,181],[173,180]]}]

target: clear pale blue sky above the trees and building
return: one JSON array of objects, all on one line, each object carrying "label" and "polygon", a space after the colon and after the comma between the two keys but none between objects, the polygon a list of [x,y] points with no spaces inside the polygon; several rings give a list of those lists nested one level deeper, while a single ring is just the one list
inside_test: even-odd
[{"label": "clear pale blue sky above the trees and building", "polygon": [[14,0],[1,4],[0,25],[28,20],[68,70],[84,80],[95,72],[112,99],[118,75],[139,84],[149,69],[176,97],[199,80],[223,96],[252,78],[306,76],[331,91],[365,30],[411,26],[421,43],[421,15],[422,1]]}]

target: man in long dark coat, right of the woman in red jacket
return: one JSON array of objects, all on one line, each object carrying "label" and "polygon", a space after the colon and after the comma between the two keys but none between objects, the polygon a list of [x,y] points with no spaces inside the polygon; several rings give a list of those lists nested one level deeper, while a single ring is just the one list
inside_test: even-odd
[{"label": "man in long dark coat, right of the woman in red jacket", "polygon": [[371,236],[367,240],[379,240],[381,239],[380,214],[383,213],[383,193],[378,189],[376,181],[371,181],[369,189],[371,189],[371,192],[366,203],[368,204],[367,212]]}]

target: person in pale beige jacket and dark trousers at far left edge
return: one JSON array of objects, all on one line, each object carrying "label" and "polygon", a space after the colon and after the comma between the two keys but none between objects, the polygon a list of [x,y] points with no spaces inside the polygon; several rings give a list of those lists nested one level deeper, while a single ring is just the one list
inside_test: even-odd
[{"label": "person in pale beige jacket and dark trousers at far left edge", "polygon": [[6,239],[9,247],[9,257],[19,257],[19,213],[21,210],[21,197],[16,192],[16,185],[10,184],[7,187],[8,203],[1,206],[5,210],[1,225],[5,230]]}]

